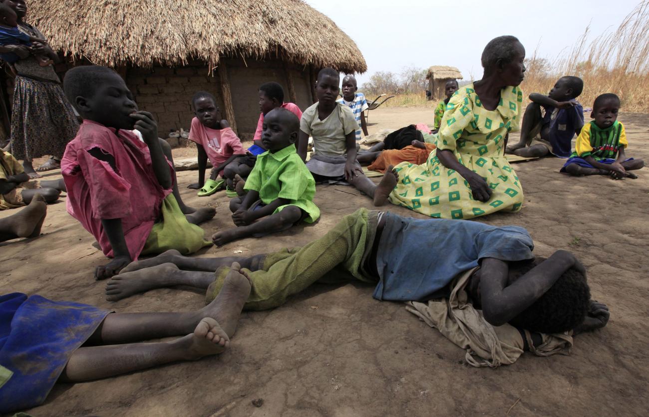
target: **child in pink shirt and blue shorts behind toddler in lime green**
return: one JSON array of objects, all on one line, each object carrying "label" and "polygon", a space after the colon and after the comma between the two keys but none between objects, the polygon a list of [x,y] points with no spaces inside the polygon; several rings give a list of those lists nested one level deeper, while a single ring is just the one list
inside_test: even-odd
[{"label": "child in pink shirt and blue shorts behind toddler in lime green", "polygon": [[[254,167],[257,156],[267,150],[264,149],[262,144],[263,117],[271,110],[280,107],[295,114],[298,120],[302,117],[302,110],[298,106],[291,102],[284,102],[284,89],[280,84],[276,82],[265,82],[262,84],[259,87],[259,110],[261,113],[257,122],[257,128],[254,131],[254,137],[252,137],[254,144],[248,148],[247,155],[239,156],[225,167],[223,176],[229,190],[234,189],[234,177],[238,175],[241,178],[247,178],[252,171],[252,167]],[[234,197],[234,194],[230,195]]]}]

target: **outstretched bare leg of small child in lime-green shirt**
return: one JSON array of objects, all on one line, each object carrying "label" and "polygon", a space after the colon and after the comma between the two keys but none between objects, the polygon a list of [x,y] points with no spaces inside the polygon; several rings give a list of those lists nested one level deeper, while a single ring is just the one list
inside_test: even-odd
[{"label": "outstretched bare leg of small child in lime-green shirt", "polygon": [[[239,198],[241,197],[238,197],[238,199]],[[264,217],[263,219],[257,220],[247,226],[239,226],[223,230],[223,232],[214,233],[214,235],[212,235],[212,241],[214,241],[214,244],[217,246],[223,246],[228,242],[243,239],[252,235],[265,235],[268,233],[282,232],[282,230],[286,230],[293,226],[293,224],[298,222],[301,218],[302,209],[297,206],[288,206],[282,209],[279,213]]]}]

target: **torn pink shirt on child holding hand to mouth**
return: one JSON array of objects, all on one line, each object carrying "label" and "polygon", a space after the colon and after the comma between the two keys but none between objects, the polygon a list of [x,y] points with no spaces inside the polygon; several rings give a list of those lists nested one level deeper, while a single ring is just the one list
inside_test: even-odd
[{"label": "torn pink shirt on child holding hand to mouth", "polygon": [[[89,153],[95,148],[114,158],[115,170]],[[128,130],[84,120],[67,144],[61,173],[67,212],[92,233],[104,255],[112,257],[113,250],[101,219],[121,219],[130,258],[138,259],[160,216],[162,200],[171,193],[158,184],[147,145]]]}]

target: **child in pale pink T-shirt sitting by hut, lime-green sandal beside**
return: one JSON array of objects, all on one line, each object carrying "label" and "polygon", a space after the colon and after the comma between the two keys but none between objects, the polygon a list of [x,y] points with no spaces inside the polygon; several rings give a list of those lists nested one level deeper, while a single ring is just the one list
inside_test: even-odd
[{"label": "child in pale pink T-shirt sitting by hut, lime-green sandal beside", "polygon": [[[189,139],[196,143],[199,151],[199,182],[190,184],[188,188],[200,189],[199,197],[206,197],[225,187],[225,167],[245,152],[241,140],[230,128],[228,121],[221,119],[221,111],[214,95],[199,91],[191,103],[196,117],[191,119]],[[212,163],[212,174],[205,181],[208,158]],[[217,181],[219,175],[221,180]]]}]

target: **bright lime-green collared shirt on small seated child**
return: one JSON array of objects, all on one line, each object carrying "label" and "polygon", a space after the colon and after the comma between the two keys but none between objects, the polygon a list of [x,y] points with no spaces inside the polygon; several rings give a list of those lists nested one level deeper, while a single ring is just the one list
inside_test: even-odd
[{"label": "bright lime-green collared shirt on small seated child", "polygon": [[257,191],[263,204],[270,204],[277,198],[290,201],[278,207],[275,213],[286,206],[297,206],[307,213],[308,217],[304,219],[307,223],[313,223],[320,217],[320,209],[313,204],[315,180],[297,154],[295,145],[291,144],[275,153],[266,151],[258,155],[244,189]]}]

